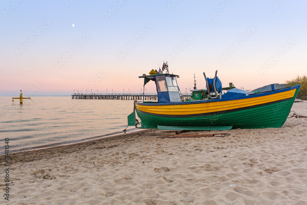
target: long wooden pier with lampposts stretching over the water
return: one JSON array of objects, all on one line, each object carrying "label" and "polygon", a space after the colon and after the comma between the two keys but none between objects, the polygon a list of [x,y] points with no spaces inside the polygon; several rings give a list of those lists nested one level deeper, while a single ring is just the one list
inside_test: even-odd
[{"label": "long wooden pier with lampposts stretching over the water", "polygon": [[[189,99],[190,94],[183,94],[184,99]],[[158,94],[72,94],[72,99],[99,99],[99,100],[158,100]]]}]

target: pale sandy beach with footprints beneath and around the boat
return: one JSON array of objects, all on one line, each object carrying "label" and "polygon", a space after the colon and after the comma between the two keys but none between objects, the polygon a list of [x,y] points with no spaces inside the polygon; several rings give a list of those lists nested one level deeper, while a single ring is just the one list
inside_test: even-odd
[{"label": "pale sandy beach with footprints beneath and around the boat", "polygon": [[[307,101],[291,110],[307,116]],[[142,130],[14,153],[1,204],[307,204],[306,128],[307,118],[290,118],[281,128],[185,132],[226,137]]]}]

